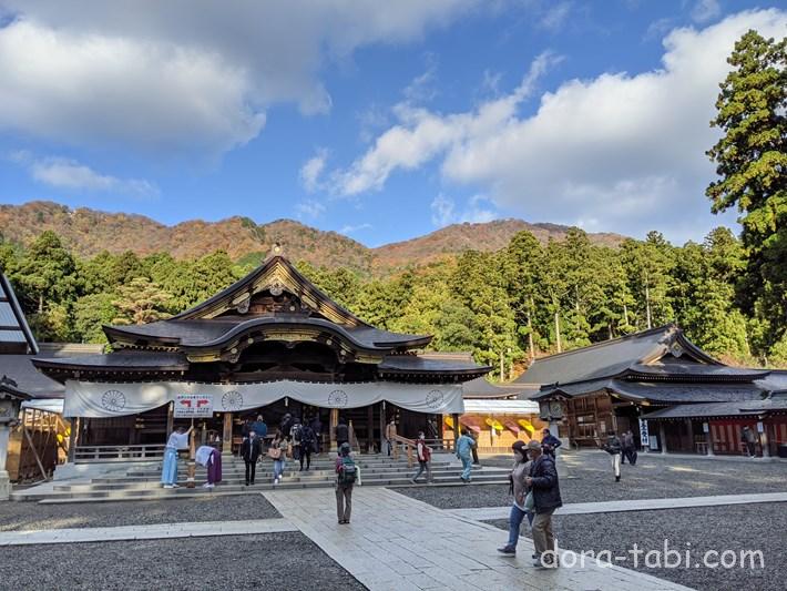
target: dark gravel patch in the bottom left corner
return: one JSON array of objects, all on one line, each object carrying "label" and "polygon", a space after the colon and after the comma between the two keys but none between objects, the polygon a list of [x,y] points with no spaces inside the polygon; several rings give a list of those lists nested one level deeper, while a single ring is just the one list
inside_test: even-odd
[{"label": "dark gravel patch in the bottom left corner", "polygon": [[298,532],[0,548],[2,589],[300,591],[315,585],[366,589]]}]

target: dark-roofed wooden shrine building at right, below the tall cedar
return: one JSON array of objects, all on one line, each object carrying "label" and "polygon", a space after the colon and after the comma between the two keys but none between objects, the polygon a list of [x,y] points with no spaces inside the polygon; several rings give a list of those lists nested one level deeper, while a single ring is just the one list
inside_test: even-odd
[{"label": "dark-roofed wooden shrine building at right, below the tall cedar", "polygon": [[536,359],[518,383],[540,387],[541,416],[575,447],[631,429],[661,452],[787,456],[787,373],[730,367],[674,324]]}]

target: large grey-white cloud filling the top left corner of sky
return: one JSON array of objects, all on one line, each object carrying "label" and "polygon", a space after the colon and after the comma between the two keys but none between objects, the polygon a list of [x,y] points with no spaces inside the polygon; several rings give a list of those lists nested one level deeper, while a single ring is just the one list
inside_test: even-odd
[{"label": "large grey-white cloud filling the top left corner of sky", "polygon": [[326,61],[419,39],[480,3],[6,0],[14,18],[0,26],[0,130],[222,153],[255,137],[270,104],[326,112]]}]

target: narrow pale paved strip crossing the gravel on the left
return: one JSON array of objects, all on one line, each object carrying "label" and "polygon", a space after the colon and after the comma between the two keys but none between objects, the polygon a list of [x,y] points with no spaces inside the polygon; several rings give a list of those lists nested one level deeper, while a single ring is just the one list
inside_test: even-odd
[{"label": "narrow pale paved strip crossing the gravel on the left", "polygon": [[247,533],[297,531],[286,519],[253,519],[247,521],[202,521],[161,523],[155,526],[119,526],[114,528],[51,529],[40,531],[7,531],[0,533],[2,546],[37,543],[115,542],[121,540],[159,540]]}]

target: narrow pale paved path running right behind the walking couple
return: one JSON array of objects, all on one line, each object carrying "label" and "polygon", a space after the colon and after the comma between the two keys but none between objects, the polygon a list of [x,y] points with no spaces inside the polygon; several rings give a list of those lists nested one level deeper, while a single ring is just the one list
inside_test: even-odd
[{"label": "narrow pale paved path running right behind the walking couple", "polygon": [[[681,497],[677,499],[640,499],[628,501],[573,502],[561,507],[555,514],[615,513],[619,511],[650,511],[656,509],[683,509],[688,507],[717,507],[722,505],[752,505],[757,502],[787,502],[787,492],[759,495],[719,495],[715,497]],[[449,509],[450,513],[466,519],[491,521],[508,519],[511,506]]]}]

